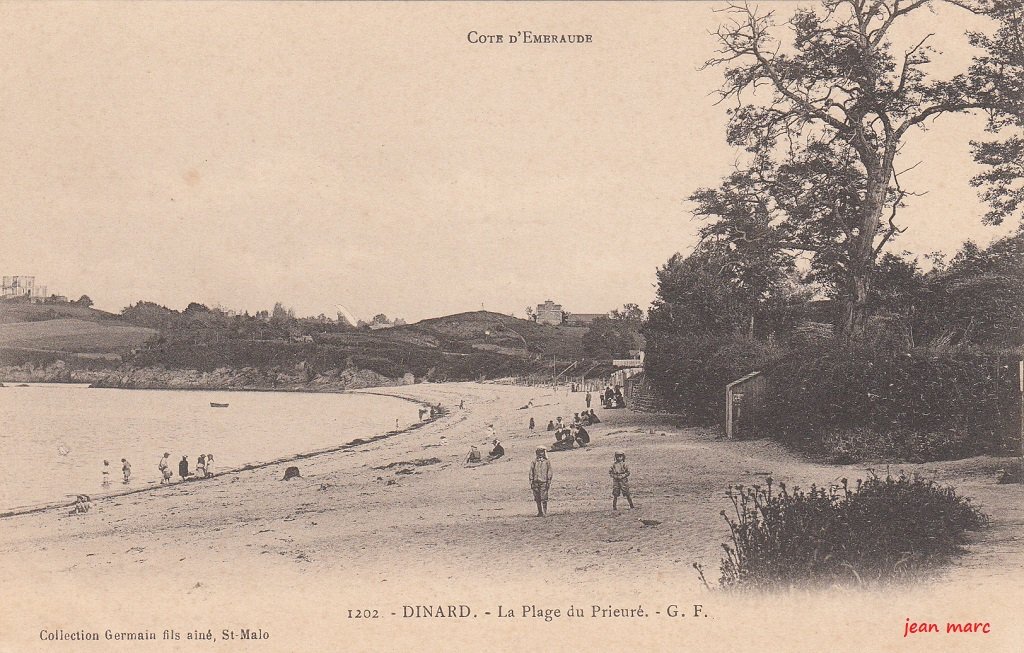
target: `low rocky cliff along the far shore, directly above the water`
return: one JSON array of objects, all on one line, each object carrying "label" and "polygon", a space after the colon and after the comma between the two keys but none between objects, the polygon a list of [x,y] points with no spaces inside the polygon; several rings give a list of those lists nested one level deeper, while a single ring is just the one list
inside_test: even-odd
[{"label": "low rocky cliff along the far shore, directly above the water", "polygon": [[301,366],[295,369],[219,367],[213,372],[122,366],[96,380],[93,385],[97,388],[341,392],[356,388],[402,385],[408,381],[351,368],[310,375]]}]

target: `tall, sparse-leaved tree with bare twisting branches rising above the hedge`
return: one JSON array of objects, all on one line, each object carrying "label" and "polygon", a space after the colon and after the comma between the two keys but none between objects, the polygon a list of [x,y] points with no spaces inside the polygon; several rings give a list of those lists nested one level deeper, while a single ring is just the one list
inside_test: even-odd
[{"label": "tall, sparse-leaved tree with bare twisting branches rising above the hedge", "polygon": [[[944,114],[972,111],[988,112],[993,130],[1020,124],[1019,2],[946,2],[999,25],[994,36],[969,35],[983,54],[952,79],[932,79],[926,71],[934,35],[907,40],[915,14],[938,4],[932,0],[821,0],[818,9],[799,8],[786,21],[793,41],[785,47],[774,12],[732,4],[717,32],[719,53],[707,62],[725,68],[721,98],[736,102],[728,141],[752,155],[737,174],[752,182],[749,198],[764,214],[763,236],[769,246],[813,253],[818,273],[830,275],[845,304],[841,325],[850,338],[863,332],[876,259],[900,232],[896,211],[906,192],[898,159],[911,134]],[[977,148],[991,159],[993,149],[1014,142]],[[990,165],[1019,165],[1012,153],[999,154]],[[1002,170],[1000,179],[1014,172]],[[992,191],[991,180],[977,183]],[[995,193],[1006,209],[1000,188]],[[729,217],[707,202],[698,213]],[[754,237],[732,218],[735,228],[723,225],[717,236],[735,242],[738,229]]]}]

